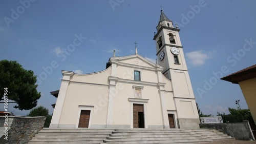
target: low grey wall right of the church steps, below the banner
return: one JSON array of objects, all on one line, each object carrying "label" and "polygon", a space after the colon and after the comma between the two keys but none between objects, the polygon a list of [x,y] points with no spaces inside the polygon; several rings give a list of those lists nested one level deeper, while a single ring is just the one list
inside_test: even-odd
[{"label": "low grey wall right of the church steps, below the banner", "polygon": [[239,140],[255,140],[248,120],[238,123],[199,124],[201,129],[217,129]]}]

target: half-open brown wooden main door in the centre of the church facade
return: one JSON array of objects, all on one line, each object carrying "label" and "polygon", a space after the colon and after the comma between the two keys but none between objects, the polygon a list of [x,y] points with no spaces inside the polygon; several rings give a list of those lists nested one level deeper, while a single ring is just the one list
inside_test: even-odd
[{"label": "half-open brown wooden main door in the centre of the church facade", "polygon": [[145,128],[143,105],[133,104],[133,128]]}]

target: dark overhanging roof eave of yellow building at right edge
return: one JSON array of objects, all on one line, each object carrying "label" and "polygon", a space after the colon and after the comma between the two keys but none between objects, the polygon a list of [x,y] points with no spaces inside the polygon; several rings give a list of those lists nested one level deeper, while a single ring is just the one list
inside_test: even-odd
[{"label": "dark overhanging roof eave of yellow building at right edge", "polygon": [[238,72],[222,77],[221,79],[230,81],[233,84],[238,84],[240,81],[248,80],[255,77],[256,77],[256,65],[252,65],[248,68],[242,69]]}]

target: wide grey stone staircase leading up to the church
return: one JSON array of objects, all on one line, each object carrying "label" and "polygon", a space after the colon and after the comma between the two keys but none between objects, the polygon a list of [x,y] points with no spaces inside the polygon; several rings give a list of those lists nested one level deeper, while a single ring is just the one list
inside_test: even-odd
[{"label": "wide grey stone staircase leading up to the church", "polygon": [[233,139],[214,129],[42,129],[28,143],[207,143]]}]

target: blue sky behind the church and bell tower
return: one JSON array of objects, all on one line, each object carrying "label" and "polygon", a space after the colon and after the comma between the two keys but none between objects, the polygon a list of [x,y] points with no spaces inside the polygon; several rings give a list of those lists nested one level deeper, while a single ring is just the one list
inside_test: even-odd
[{"label": "blue sky behind the church and bell tower", "polygon": [[[256,1],[20,2],[0,2],[0,60],[17,60],[39,78],[41,74],[38,105],[50,113],[51,104],[56,102],[50,92],[59,89],[61,70],[101,71],[114,49],[117,56],[134,54],[135,41],[140,55],[155,59],[153,36],[161,5],[168,18],[180,24],[181,42],[201,111],[227,113],[228,107],[237,107],[238,99],[241,108],[247,108],[239,85],[218,77],[255,64]],[[79,36],[83,38],[72,52],[63,52]],[[47,75],[42,74],[46,73],[44,69],[48,69]],[[29,112],[12,106],[9,111],[16,115]],[[0,107],[3,110],[4,106]]]}]

